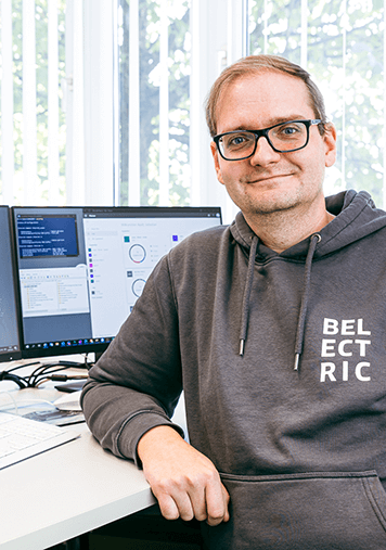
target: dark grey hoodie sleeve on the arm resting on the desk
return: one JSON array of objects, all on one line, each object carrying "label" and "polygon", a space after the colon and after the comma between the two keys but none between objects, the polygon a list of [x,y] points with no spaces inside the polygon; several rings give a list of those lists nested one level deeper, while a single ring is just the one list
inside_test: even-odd
[{"label": "dark grey hoodie sleeve on the arm resting on the desk", "polygon": [[182,391],[177,304],[168,256],[107,350],[90,370],[81,405],[103,448],[139,464],[141,436],[170,421]]}]

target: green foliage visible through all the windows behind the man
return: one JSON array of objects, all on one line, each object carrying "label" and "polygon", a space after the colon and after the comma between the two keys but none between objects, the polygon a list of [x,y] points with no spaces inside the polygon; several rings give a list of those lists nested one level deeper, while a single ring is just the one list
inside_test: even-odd
[{"label": "green foliage visible through all the windows behind the man", "polygon": [[[168,0],[169,196],[190,203],[190,2]],[[346,11],[344,7],[346,5]],[[300,0],[249,0],[250,51],[300,63]],[[267,11],[265,13],[265,7]],[[59,0],[59,67],[65,78],[65,8]],[[23,0],[13,0],[14,167],[16,203],[23,197]],[[130,0],[120,0],[120,204],[129,181]],[[141,204],[159,204],[160,0],[140,0]],[[355,188],[383,203],[384,2],[308,0],[307,69],[321,88],[337,128],[338,158],[327,170],[326,192]],[[48,0],[36,0],[37,153],[39,196],[48,201]],[[1,86],[1,82],[0,82]],[[61,94],[61,92],[60,92]],[[61,98],[60,98],[61,99]],[[65,113],[60,108],[60,193],[65,203]]]}]

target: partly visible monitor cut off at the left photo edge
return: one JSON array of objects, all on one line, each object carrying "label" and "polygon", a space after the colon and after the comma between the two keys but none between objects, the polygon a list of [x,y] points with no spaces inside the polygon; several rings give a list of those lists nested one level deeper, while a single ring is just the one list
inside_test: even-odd
[{"label": "partly visible monitor cut off at the left photo edge", "polygon": [[10,209],[0,206],[0,362],[22,358]]}]

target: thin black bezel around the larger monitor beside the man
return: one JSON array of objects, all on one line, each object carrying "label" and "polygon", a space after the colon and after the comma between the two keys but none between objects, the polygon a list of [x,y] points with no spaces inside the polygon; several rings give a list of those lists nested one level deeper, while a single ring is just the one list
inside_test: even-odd
[{"label": "thin black bezel around the larger monitor beside the man", "polygon": [[[12,219],[12,233],[14,239],[14,261],[15,261],[15,277],[16,277],[16,294],[17,294],[17,308],[18,308],[18,319],[20,319],[20,346],[22,357],[25,359],[33,358],[46,358],[46,357],[56,357],[56,356],[68,356],[68,355],[81,355],[81,354],[95,354],[95,357],[100,357],[111,344],[110,342],[99,342],[91,343],[86,345],[74,345],[74,346],[51,346],[51,347],[26,347],[30,344],[26,344],[24,341],[24,328],[23,328],[23,310],[22,310],[22,299],[21,299],[21,284],[18,277],[18,246],[17,246],[17,227],[16,227],[16,212],[20,210],[33,210],[38,209],[42,213],[44,210],[62,210],[62,209],[80,209],[82,210],[82,215],[85,210],[89,214],[113,214],[116,213],[119,217],[119,214],[127,213],[131,216],[128,217],[162,217],[164,214],[172,214],[173,217],[184,217],[186,214],[196,214],[197,217],[201,214],[210,214],[208,217],[216,217],[219,219],[219,226],[222,225],[222,214],[220,206],[12,206],[11,208],[11,219]],[[184,216],[181,216],[181,215]],[[141,216],[136,216],[141,215]],[[192,216],[186,216],[192,217]],[[114,338],[112,338],[114,340]],[[37,345],[37,344],[36,344]]]}]

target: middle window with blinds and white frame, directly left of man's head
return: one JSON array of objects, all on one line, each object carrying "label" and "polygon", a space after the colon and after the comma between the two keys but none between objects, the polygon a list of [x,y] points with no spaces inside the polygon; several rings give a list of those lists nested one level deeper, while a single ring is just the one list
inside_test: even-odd
[{"label": "middle window with blinds and white frame, directly left of man's head", "polygon": [[222,68],[228,4],[118,1],[117,204],[226,204],[203,104]]}]

